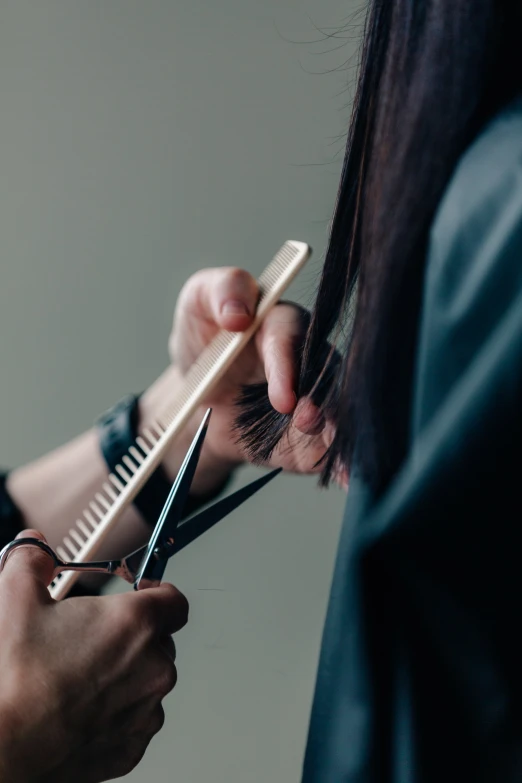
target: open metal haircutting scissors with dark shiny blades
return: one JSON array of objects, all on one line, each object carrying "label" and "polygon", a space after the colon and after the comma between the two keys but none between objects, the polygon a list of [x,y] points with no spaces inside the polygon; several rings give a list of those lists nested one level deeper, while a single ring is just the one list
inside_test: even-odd
[{"label": "open metal haircutting scissors with dark shiny blades", "polygon": [[176,552],[195,541],[196,538],[199,538],[217,522],[220,522],[232,511],[235,511],[236,508],[239,508],[245,500],[248,500],[265,484],[268,484],[282,470],[282,468],[277,468],[267,475],[261,476],[261,478],[252,481],[232,495],[219,500],[209,508],[204,509],[183,524],[180,524],[198,465],[201,447],[207,434],[211,413],[212,409],[209,408],[172,484],[169,496],[148,544],[135,552],[131,552],[121,560],[67,563],[58,557],[54,549],[45,541],[40,541],[38,538],[20,538],[11,541],[0,552],[0,572],[4,568],[7,558],[15,549],[32,546],[42,549],[52,557],[54,562],[53,578],[59,578],[59,574],[63,571],[82,571],[84,573],[119,576],[133,585],[135,590],[157,587],[161,583],[169,559]]}]

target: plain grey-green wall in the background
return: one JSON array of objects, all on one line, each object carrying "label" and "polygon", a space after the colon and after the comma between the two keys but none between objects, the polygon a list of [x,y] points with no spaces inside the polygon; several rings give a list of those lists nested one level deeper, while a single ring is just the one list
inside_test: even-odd
[{"label": "plain grey-green wall in the background", "polygon": [[[310,301],[360,33],[314,25],[360,5],[1,0],[2,464],[153,380],[199,267],[257,274],[302,239]],[[298,780],[342,504],[285,477],[172,564],[192,606],[180,680],[128,780]]]}]

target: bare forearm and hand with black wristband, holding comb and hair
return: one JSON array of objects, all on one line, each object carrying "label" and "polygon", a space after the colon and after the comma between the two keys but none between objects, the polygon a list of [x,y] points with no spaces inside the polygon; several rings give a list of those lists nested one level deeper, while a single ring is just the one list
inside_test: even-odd
[{"label": "bare forearm and hand with black wristband, holding comb and hair", "polygon": [[[255,280],[237,269],[204,270],[191,277],[180,293],[170,337],[172,366],[148,389],[141,400],[141,423],[156,419],[172,400],[180,381],[202,349],[220,329],[242,331],[252,320],[258,297]],[[219,486],[226,476],[247,461],[235,442],[232,424],[234,401],[245,383],[268,381],[274,408],[294,412],[295,441],[274,457],[276,464],[296,472],[311,472],[324,453],[321,423],[309,404],[296,409],[296,343],[302,336],[302,318],[291,305],[280,305],[269,314],[256,338],[205,401],[166,456],[164,467],[170,477],[178,470],[186,448],[201,421],[206,405],[213,415],[193,485],[195,494]],[[300,432],[314,433],[303,440]],[[107,470],[98,448],[95,431],[89,431],[60,449],[15,470],[8,490],[23,511],[28,527],[41,530],[52,545],[61,541],[106,480]],[[105,546],[113,554],[125,546],[139,545],[148,528],[134,508],[126,511],[122,524]],[[121,540],[124,539],[124,542]]]}]

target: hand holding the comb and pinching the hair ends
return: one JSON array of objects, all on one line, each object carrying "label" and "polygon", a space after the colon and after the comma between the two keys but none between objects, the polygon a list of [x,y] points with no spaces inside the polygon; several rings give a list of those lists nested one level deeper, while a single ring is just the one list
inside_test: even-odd
[{"label": "hand holding the comb and pinching the hair ends", "polygon": [[[220,268],[193,275],[180,293],[169,341],[175,371],[183,376],[219,330],[246,330],[252,322],[257,299],[257,284],[248,272]],[[288,438],[276,449],[272,464],[298,473],[319,470],[316,463],[324,455],[333,432],[310,400],[297,400],[297,347],[302,342],[304,330],[303,311],[299,307],[291,304],[275,307],[255,338],[204,401],[193,427],[187,428],[185,435],[189,440],[203,410],[211,406],[213,413],[200,463],[200,482],[211,475],[216,476],[217,482],[218,472],[222,474],[246,461],[233,432],[237,415],[234,403],[243,384],[262,381],[268,382],[273,407],[280,413],[293,414]],[[173,383],[172,377],[165,381],[165,396],[172,395]],[[153,407],[157,408],[157,396],[152,395],[151,399]],[[174,474],[179,457],[173,453],[171,458]],[[201,473],[205,471],[202,477]],[[208,478],[207,483],[210,481]]]}]

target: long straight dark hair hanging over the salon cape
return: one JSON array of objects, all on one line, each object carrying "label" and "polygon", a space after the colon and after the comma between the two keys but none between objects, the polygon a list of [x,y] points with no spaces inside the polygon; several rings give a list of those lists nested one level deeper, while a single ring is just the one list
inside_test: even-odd
[{"label": "long straight dark hair hanging over the salon cape", "polygon": [[[518,13],[516,0],[370,0],[298,388],[336,424],[324,483],[336,461],[350,468],[355,457],[380,491],[407,452],[430,226],[459,157],[520,87]],[[325,374],[332,336],[340,361]],[[238,426],[265,459],[288,418],[263,408],[260,392],[245,390]]]}]

